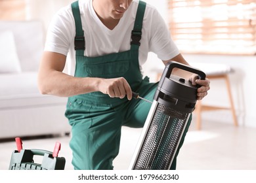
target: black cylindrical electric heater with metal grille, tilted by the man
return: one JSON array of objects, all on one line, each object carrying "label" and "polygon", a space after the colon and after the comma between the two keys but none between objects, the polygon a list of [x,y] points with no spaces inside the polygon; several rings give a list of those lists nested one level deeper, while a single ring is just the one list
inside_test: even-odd
[{"label": "black cylindrical electric heater with metal grille, tilted by the man", "polygon": [[174,68],[205,79],[202,71],[176,61],[170,61],[165,66],[129,169],[166,170],[171,167],[195,108],[199,87],[189,80],[171,75]]}]

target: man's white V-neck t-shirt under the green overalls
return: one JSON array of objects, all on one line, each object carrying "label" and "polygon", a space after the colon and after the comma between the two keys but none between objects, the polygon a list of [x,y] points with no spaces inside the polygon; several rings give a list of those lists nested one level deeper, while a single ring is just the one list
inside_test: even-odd
[{"label": "man's white V-neck t-shirt under the green overalls", "polygon": [[[102,24],[96,15],[93,9],[93,0],[79,1],[81,22],[85,34],[84,55],[96,57],[129,50],[131,48],[131,31],[138,5],[138,0],[132,1],[116,27],[110,30]],[[75,72],[74,37],[74,16],[71,5],[68,5],[54,15],[47,32],[45,51],[68,56],[68,74],[73,76]],[[148,52],[154,52],[161,60],[168,60],[179,54],[163,18],[156,8],[147,4],[139,47],[140,69],[148,57]]]}]

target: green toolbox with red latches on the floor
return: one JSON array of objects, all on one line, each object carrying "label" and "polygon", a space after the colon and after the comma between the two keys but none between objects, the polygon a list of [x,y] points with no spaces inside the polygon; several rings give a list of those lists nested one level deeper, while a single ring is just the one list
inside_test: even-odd
[{"label": "green toolbox with red latches on the floor", "polygon": [[[53,152],[40,149],[22,148],[20,137],[15,138],[17,150],[12,152],[9,170],[64,170],[66,159],[58,157],[60,142],[56,142]],[[33,156],[43,156],[42,163],[35,163]]]}]

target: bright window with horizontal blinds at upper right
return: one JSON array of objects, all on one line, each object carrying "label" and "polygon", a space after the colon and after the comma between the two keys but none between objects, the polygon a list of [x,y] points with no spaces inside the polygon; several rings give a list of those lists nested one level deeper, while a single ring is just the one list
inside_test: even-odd
[{"label": "bright window with horizontal blinds at upper right", "polygon": [[182,53],[256,54],[255,0],[169,0],[169,27]]}]

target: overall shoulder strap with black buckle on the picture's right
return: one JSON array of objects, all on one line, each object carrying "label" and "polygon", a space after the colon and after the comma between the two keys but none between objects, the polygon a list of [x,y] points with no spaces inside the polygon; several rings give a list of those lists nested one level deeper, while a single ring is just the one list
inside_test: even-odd
[{"label": "overall shoulder strap with black buckle on the picture's right", "polygon": [[139,1],[137,14],[135,18],[135,24],[133,27],[133,31],[131,31],[131,46],[133,48],[138,49],[140,46],[140,39],[142,35],[141,29],[142,29],[145,9],[146,9],[146,3],[144,1]]}]

